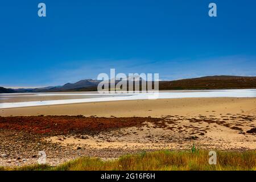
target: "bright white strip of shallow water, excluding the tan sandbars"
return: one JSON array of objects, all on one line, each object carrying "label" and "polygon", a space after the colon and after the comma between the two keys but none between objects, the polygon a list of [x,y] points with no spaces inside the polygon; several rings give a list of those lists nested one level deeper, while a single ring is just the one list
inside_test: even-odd
[{"label": "bright white strip of shallow water, excluding the tan sandbars", "polygon": [[[42,94],[38,94],[42,95]],[[232,89],[232,90],[189,90],[182,92],[156,92],[156,93],[126,93],[123,96],[117,94],[99,94],[99,93],[51,93],[44,96],[104,96],[97,98],[79,98],[69,100],[52,100],[52,101],[31,101],[31,102],[13,102],[1,103],[0,109],[14,107],[44,106],[44,105],[60,105],[60,104],[76,104],[84,102],[104,102],[104,101],[125,101],[125,100],[144,100],[158,98],[195,98],[195,97],[256,97],[256,89]],[[111,97],[112,96],[112,97]]]}]

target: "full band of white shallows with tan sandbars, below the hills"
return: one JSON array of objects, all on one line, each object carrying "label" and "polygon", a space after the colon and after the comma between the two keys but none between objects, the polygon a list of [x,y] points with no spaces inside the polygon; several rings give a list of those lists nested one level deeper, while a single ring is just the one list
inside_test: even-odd
[{"label": "full band of white shallows with tan sandbars, below the hills", "polygon": [[256,89],[182,90],[157,93],[13,93],[0,94],[0,109],[13,107],[75,104],[82,102],[123,101],[156,98],[256,97]]}]

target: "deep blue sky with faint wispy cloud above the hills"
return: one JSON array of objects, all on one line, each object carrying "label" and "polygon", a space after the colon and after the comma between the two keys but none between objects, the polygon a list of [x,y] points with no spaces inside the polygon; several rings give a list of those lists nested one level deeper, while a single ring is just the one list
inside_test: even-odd
[{"label": "deep blue sky with faint wispy cloud above the hills", "polygon": [[1,1],[0,86],[63,85],[110,68],[162,80],[256,76],[255,9],[254,0]]}]

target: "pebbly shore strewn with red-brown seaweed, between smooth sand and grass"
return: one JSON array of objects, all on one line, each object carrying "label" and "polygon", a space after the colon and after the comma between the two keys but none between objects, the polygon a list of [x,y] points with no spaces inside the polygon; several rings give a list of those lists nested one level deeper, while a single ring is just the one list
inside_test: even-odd
[{"label": "pebbly shore strewn with red-brown seaweed, between smooth sand and grass", "polygon": [[197,147],[255,150],[256,115],[165,115],[161,118],[77,116],[0,117],[0,166],[36,164],[39,151],[56,166],[80,156]]}]

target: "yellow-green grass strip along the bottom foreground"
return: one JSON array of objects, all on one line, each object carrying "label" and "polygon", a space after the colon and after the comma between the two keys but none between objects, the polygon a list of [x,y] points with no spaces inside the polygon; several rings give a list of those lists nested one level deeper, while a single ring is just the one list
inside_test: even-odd
[{"label": "yellow-green grass strip along the bottom foreground", "polygon": [[[206,150],[156,151],[125,155],[117,160],[102,161],[96,158],[79,158],[57,167],[47,165],[26,166],[6,170],[256,170],[256,151],[217,151],[217,164],[208,163]],[[1,169],[1,168],[0,168]],[[3,169],[3,168],[2,168]]]}]

